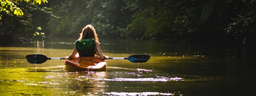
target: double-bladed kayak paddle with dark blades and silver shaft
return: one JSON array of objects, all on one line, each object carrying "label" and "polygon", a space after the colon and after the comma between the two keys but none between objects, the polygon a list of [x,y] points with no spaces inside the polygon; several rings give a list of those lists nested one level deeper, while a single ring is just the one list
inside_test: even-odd
[{"label": "double-bladed kayak paddle with dark blades and silver shaft", "polygon": [[[48,58],[47,56],[43,54],[31,54],[27,55],[26,59],[29,63],[31,64],[41,64],[44,63],[47,60],[53,60],[53,59],[64,59],[64,58]],[[109,59],[125,59],[129,60],[133,63],[145,63],[150,59],[150,55],[147,54],[137,54],[137,55],[131,55],[129,57],[124,57],[124,58],[109,58]]]}]

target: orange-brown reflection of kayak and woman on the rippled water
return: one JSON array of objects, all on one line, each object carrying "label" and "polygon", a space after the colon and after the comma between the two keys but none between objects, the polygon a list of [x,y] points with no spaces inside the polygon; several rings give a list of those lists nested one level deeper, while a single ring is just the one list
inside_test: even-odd
[{"label": "orange-brown reflection of kayak and woman on the rippled water", "polygon": [[67,76],[67,86],[73,93],[97,95],[106,92],[106,83],[99,80],[106,78],[106,71],[71,72]]}]

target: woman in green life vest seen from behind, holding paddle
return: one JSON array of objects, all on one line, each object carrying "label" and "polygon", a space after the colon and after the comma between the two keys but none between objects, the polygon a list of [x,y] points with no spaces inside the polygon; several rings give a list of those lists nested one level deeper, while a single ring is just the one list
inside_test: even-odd
[{"label": "woman in green life vest seen from behind, holding paddle", "polygon": [[64,58],[70,60],[75,58],[77,53],[79,56],[96,56],[95,54],[97,54],[102,60],[107,60],[109,58],[109,56],[103,55],[99,46],[98,35],[96,34],[94,27],[90,24],[83,28],[79,39],[76,41],[73,52]]}]

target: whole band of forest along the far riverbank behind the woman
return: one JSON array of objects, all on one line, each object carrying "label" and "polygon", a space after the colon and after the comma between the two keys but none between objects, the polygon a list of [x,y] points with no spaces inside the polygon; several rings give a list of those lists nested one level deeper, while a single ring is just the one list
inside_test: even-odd
[{"label": "whole band of forest along the far riverbank behind the woman", "polygon": [[[1,0],[0,33],[253,46],[256,0]],[[38,28],[40,30],[38,30]]]}]

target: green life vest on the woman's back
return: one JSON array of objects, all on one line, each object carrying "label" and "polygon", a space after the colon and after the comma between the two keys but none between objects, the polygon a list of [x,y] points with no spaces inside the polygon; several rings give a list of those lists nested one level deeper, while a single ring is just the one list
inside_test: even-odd
[{"label": "green life vest on the woman's back", "polygon": [[79,56],[92,57],[95,55],[95,40],[94,39],[82,39],[76,41],[76,47]]}]

